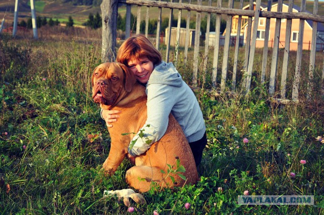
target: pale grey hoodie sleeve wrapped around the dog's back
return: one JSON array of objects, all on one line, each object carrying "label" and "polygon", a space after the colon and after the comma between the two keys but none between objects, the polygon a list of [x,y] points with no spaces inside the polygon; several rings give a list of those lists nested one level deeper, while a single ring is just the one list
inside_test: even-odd
[{"label": "pale grey hoodie sleeve wrapped around the dog's back", "polygon": [[166,133],[169,114],[175,104],[175,97],[172,96],[175,88],[166,84],[147,86],[147,119],[129,145],[128,152],[132,156],[146,152]]}]

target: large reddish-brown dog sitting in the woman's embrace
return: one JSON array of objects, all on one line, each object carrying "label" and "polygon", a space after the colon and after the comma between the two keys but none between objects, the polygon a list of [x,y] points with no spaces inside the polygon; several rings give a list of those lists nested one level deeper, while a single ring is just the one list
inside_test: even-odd
[{"label": "large reddish-brown dog sitting in the woman's embrace", "polygon": [[[128,146],[135,136],[121,134],[137,133],[146,121],[145,88],[136,81],[133,72],[119,63],[99,65],[92,75],[92,87],[92,97],[96,103],[100,103],[101,108],[121,111],[113,127],[108,128],[111,148],[103,163],[106,173],[112,175],[128,155]],[[168,174],[170,166],[167,164],[176,169],[177,160],[185,167],[185,172],[179,174],[185,176],[186,181],[172,171]],[[147,152],[136,156],[135,165],[127,170],[126,181],[140,192],[148,191],[151,182],[156,182],[161,187],[173,187],[183,186],[185,183],[195,184],[198,179],[189,144],[179,123],[171,114],[166,134],[153,143]]]}]

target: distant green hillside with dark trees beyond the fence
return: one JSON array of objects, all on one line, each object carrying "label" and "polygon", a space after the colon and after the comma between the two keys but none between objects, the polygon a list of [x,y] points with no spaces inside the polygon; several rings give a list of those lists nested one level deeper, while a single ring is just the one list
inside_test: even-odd
[{"label": "distant green hillside with dark trees beyond the fence", "polygon": [[[166,0],[164,0],[166,1]],[[100,4],[102,0],[44,0],[35,1],[36,16],[47,17],[52,19],[58,19],[61,23],[67,22],[68,17],[71,16],[74,20],[75,25],[82,25],[85,23],[89,17],[89,14],[96,14],[99,12],[101,14]],[[174,1],[177,2],[177,1]],[[186,1],[183,1],[186,2]],[[262,0],[262,3],[267,4],[267,0]],[[288,4],[288,0],[284,0],[284,3]],[[300,6],[301,0],[295,0],[294,4]],[[19,5],[19,22],[24,19],[27,20],[31,17],[29,0],[21,0]],[[195,1],[192,1],[195,4]],[[212,1],[212,5],[216,5],[217,1]],[[249,1],[245,1],[244,6],[248,5]],[[276,2],[273,2],[276,4]],[[208,5],[208,0],[203,0],[203,5]],[[239,1],[234,1],[234,8],[238,8]],[[222,7],[227,7],[227,1],[223,0]],[[120,15],[124,16],[126,13],[126,7],[121,6],[118,10]],[[313,2],[306,2],[306,9],[308,11],[313,11]],[[2,18],[6,19],[6,24],[11,25],[14,19],[15,1],[14,0],[0,0],[0,20]],[[156,19],[157,8],[150,8],[149,16],[151,19]],[[174,14],[178,11],[174,10]],[[132,7],[132,13],[137,14],[137,7]],[[187,16],[187,11],[183,10],[182,17]],[[195,17],[195,12],[191,13],[192,19]],[[324,14],[324,2],[319,2],[318,14]],[[145,19],[146,9],[142,9],[141,18]],[[169,16],[169,9],[163,9],[163,17]],[[203,16],[205,16],[203,14]],[[223,16],[225,18],[225,15]]]}]

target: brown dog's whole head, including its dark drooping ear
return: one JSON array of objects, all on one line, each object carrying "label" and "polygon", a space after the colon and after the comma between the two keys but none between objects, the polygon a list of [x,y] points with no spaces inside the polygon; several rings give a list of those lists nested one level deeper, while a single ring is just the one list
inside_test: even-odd
[{"label": "brown dog's whole head, including its dark drooping ear", "polygon": [[132,91],[135,82],[133,72],[124,64],[100,64],[92,74],[92,98],[101,106],[112,106],[121,95]]}]

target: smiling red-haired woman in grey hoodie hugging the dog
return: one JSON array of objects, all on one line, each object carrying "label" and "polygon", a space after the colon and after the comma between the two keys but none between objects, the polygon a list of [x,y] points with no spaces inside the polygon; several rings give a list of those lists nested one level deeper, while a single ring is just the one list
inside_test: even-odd
[{"label": "smiling red-haired woman in grey hoodie hugging the dog", "polygon": [[[161,54],[141,34],[125,40],[116,61],[129,67],[137,81],[145,85],[147,94],[147,120],[141,128],[145,136],[139,138],[138,133],[133,138],[132,142],[137,141],[129,147],[129,154],[140,155],[158,141],[165,134],[172,113],[181,125],[198,166],[207,143],[205,121],[195,95],[174,65],[162,61]],[[113,126],[109,123],[116,121],[118,114],[123,113],[101,110],[108,127]],[[150,144],[145,143],[147,139]]]}]

